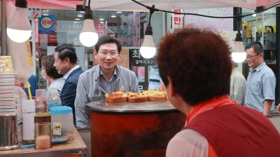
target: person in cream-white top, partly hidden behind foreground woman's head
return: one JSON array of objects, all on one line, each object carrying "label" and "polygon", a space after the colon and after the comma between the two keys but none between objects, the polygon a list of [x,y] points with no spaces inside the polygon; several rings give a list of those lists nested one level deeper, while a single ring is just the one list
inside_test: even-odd
[{"label": "person in cream-white top, partly hidden behind foreground woman's head", "polygon": [[240,105],[244,105],[246,79],[237,69],[238,63],[232,61],[232,75],[230,75],[230,98]]}]

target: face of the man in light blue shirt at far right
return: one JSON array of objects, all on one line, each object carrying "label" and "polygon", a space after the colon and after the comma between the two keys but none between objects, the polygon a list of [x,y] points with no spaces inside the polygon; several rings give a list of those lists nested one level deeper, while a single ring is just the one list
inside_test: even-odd
[{"label": "face of the man in light blue shirt at far right", "polygon": [[256,54],[253,47],[246,50],[248,66],[257,68],[262,63],[262,53]]}]

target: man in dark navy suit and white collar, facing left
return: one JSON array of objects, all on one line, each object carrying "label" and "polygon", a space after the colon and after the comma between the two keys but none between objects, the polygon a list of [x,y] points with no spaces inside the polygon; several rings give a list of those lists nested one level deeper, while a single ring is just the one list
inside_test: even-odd
[{"label": "man in dark navy suit and white collar, facing left", "polygon": [[76,126],[75,98],[78,78],[83,70],[77,63],[78,57],[74,47],[61,45],[55,48],[55,63],[53,64],[59,74],[63,74],[65,83],[60,94],[62,106],[72,107],[73,124]]}]

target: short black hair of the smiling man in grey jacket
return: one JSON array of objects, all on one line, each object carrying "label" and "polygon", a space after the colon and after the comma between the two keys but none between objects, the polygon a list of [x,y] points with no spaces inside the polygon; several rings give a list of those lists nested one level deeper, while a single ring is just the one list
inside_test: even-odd
[{"label": "short black hair of the smiling man in grey jacket", "polygon": [[100,37],[97,41],[97,44],[95,44],[94,49],[98,52],[99,47],[101,45],[106,44],[106,43],[116,43],[116,45],[118,47],[118,53],[120,53],[122,51],[122,45],[120,44],[120,41],[113,36],[102,36],[102,37]]}]

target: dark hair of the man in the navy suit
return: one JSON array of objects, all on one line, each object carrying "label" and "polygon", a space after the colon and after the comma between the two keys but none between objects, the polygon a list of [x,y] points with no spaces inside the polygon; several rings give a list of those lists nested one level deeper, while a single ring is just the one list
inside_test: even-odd
[{"label": "dark hair of the man in the navy suit", "polygon": [[75,47],[71,47],[70,45],[63,44],[57,46],[55,47],[55,52],[58,52],[58,57],[61,60],[69,58],[71,64],[76,64],[78,61],[76,49]]}]

